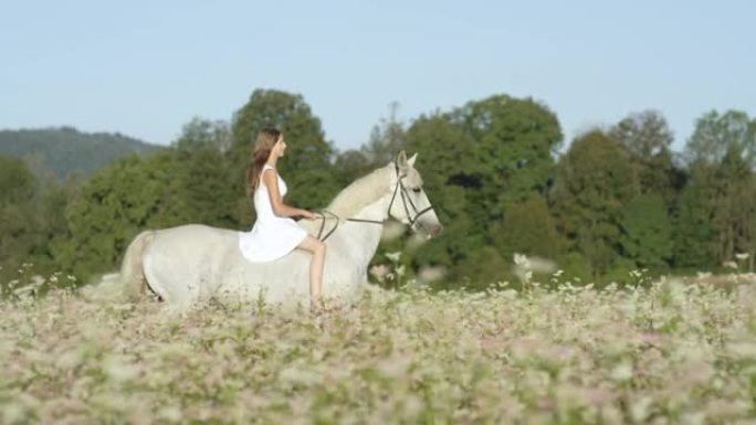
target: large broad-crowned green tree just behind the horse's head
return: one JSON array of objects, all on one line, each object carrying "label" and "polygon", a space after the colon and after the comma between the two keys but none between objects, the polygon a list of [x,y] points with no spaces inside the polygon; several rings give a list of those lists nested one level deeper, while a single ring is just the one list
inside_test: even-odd
[{"label": "large broad-crowned green tree just behind the horse's head", "polygon": [[[426,192],[444,225],[417,261],[448,262],[448,281],[468,279],[468,287],[506,277],[511,257],[496,252],[490,223],[546,191],[560,141],[552,111],[506,95],[417,119],[406,135],[407,150],[420,152]],[[483,259],[501,267],[480,267]]]}]

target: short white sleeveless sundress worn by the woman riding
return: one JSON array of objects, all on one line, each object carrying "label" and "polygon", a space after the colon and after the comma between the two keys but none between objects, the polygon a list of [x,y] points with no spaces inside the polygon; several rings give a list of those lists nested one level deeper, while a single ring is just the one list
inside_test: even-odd
[{"label": "short white sleeveless sundress worn by the woman riding", "polygon": [[307,237],[307,232],[300,227],[290,217],[277,216],[273,213],[267,188],[262,182],[262,173],[270,168],[279,178],[279,191],[281,198],[286,194],[288,188],[277,171],[269,164],[264,164],[260,172],[260,183],[254,190],[254,210],[258,220],[249,232],[239,232],[239,248],[244,258],[253,263],[271,262],[291,253],[302,241]]}]

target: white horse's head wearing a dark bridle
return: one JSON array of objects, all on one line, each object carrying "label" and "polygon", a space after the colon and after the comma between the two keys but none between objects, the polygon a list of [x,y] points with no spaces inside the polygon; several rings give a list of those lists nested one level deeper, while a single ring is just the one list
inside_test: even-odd
[{"label": "white horse's head wearing a dark bridle", "polygon": [[391,168],[389,215],[409,224],[414,232],[423,231],[429,237],[437,236],[443,226],[422,189],[420,173],[414,169],[417,158],[418,155],[414,153],[407,159],[402,150],[397,159],[387,166]]}]

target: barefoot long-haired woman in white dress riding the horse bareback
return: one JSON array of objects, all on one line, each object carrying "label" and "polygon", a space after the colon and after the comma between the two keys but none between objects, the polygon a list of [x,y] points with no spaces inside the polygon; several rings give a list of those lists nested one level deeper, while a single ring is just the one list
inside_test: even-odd
[{"label": "barefoot long-haired woman in white dress riding the horse bareback", "polygon": [[246,185],[253,195],[258,220],[252,231],[241,233],[239,247],[250,262],[270,262],[283,257],[294,248],[309,252],[313,255],[309,263],[309,298],[311,307],[315,307],[321,300],[326,246],[291,219],[303,216],[314,220],[317,216],[283,202],[288,189],[275,166],[285,150],[286,142],[277,129],[265,128],[258,134],[252,160],[246,170]]}]

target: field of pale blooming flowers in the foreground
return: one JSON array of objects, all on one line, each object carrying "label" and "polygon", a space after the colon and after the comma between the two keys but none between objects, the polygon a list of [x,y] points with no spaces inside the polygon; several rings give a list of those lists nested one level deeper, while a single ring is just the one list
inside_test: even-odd
[{"label": "field of pale blooming flowers in the foreground", "polygon": [[756,423],[756,286],[0,301],[2,423]]}]

